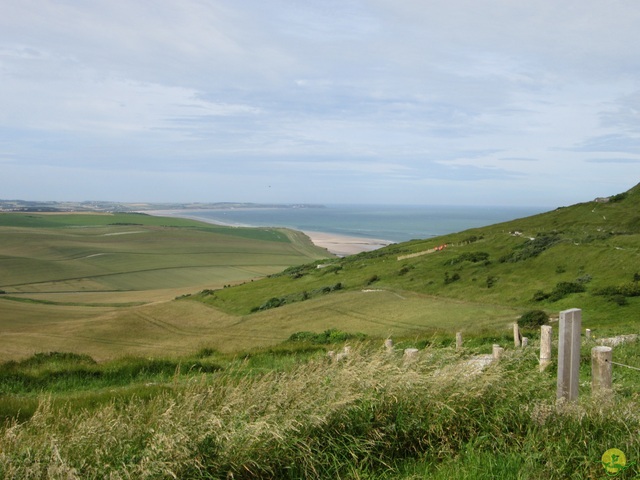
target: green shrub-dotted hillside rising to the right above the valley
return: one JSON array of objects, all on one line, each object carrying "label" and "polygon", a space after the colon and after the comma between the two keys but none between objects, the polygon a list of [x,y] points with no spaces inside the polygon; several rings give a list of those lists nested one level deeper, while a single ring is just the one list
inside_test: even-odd
[{"label": "green shrub-dotted hillside rising to the right above the valley", "polygon": [[[435,249],[441,245],[446,248]],[[606,203],[581,203],[435,239],[317,261],[192,298],[230,314],[250,315],[274,308],[286,312],[292,304],[318,298],[340,302],[345,295],[367,290],[398,297],[411,292],[424,299],[425,316],[432,298],[516,312],[543,309],[557,314],[578,307],[584,311],[585,325],[604,332],[637,328],[639,280],[640,187],[636,186]],[[384,302],[377,303],[375,297],[367,296],[370,307],[384,308]],[[403,316],[402,307],[397,308],[395,317]],[[285,313],[273,313],[277,315]],[[452,312],[445,326],[473,324]],[[433,327],[428,321],[423,325]]]}]

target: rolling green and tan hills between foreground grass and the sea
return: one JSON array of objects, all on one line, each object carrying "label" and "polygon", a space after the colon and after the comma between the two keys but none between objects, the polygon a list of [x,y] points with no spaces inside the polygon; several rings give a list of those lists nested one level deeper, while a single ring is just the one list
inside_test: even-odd
[{"label": "rolling green and tan hills between foreground grass and the sea", "polygon": [[291,230],[0,214],[0,360],[237,352],[328,329],[420,341],[462,331],[486,343],[537,309],[581,308],[595,335],[631,333],[638,212],[636,186],[606,202],[345,258]]}]

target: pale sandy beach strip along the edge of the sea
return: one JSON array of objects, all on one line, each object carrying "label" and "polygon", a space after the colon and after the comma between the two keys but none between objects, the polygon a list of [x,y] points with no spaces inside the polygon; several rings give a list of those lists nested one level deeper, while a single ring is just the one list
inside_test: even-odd
[{"label": "pale sandy beach strip along the edge of the sea", "polygon": [[[190,211],[182,211],[182,210],[145,210],[140,213],[145,213],[147,215],[154,215],[158,217],[180,217],[180,218],[188,218],[190,220],[197,220],[200,222],[211,223],[213,225],[221,225],[225,227],[245,227],[245,228],[268,228],[268,227],[256,227],[253,225],[243,225],[243,224],[234,224],[234,223],[225,223],[217,220],[212,220],[210,218],[200,217],[193,210]],[[272,227],[278,228],[278,227]],[[287,227],[291,228],[291,227]],[[292,230],[298,230],[292,228]],[[311,242],[320,248],[325,248],[334,255],[339,257],[346,257],[348,255],[355,255],[361,252],[371,252],[373,250],[377,250],[378,248],[385,247],[387,245],[391,245],[392,241],[390,240],[382,240],[378,238],[365,238],[365,237],[354,237],[348,235],[339,235],[335,233],[328,232],[317,232],[317,231],[309,231],[309,230],[298,230],[304,233]]]}]

